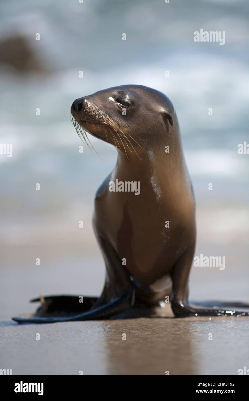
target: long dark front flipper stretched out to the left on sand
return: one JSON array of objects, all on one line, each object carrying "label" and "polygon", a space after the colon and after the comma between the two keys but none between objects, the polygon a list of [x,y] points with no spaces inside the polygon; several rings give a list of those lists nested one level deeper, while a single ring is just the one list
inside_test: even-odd
[{"label": "long dark front flipper stretched out to the left on sand", "polygon": [[[74,298],[74,297],[73,297]],[[134,302],[133,289],[130,287],[126,292],[116,296],[111,302],[98,308],[89,310],[75,316],[58,317],[33,317],[33,318],[12,318],[18,323],[56,323],[56,322],[75,322],[83,320],[108,319],[114,314],[132,306]]]}]

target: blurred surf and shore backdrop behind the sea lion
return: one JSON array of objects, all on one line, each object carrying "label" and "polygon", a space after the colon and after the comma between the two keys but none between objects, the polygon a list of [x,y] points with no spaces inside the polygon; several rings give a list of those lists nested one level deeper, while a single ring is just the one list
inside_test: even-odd
[{"label": "blurred surf and shore backdrop behind the sea lion", "polygon": [[[249,155],[237,153],[249,143],[248,2],[2,0],[1,10],[0,143],[13,144],[12,158],[0,155],[1,316],[33,310],[27,300],[39,292],[100,293],[93,199],[116,150],[92,138],[103,160],[79,153],[69,111],[124,84],[174,104],[197,201],[196,255],[226,258],[224,270],[193,267],[191,298],[248,300]],[[225,31],[225,45],[194,42],[201,28]]]}]

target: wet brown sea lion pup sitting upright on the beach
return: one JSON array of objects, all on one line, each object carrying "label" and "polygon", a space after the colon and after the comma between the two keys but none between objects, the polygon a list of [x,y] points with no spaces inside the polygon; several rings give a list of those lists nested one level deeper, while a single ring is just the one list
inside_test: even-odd
[{"label": "wet brown sea lion pup sitting upright on the beach", "polygon": [[[166,296],[175,317],[248,315],[228,309],[228,303],[215,302],[216,308],[188,303],[195,199],[171,101],[154,89],[124,85],[76,99],[71,113],[86,144],[91,146],[90,133],[118,151],[116,166],[95,198],[93,225],[106,264],[104,290],[100,298],[84,297],[83,303],[78,296],[48,296],[40,312],[52,316],[14,320],[106,319],[134,302],[149,308]],[[53,316],[57,312],[64,316]]]}]

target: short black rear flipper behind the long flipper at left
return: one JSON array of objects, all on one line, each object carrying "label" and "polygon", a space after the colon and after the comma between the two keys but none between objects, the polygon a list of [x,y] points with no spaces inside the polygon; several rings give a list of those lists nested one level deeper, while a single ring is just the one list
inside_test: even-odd
[{"label": "short black rear flipper behind the long flipper at left", "polygon": [[[97,297],[85,297],[76,295],[51,295],[34,298],[30,302],[41,302],[41,306],[37,309],[36,313],[42,315],[50,313],[83,313],[88,312],[90,308],[97,301]],[[83,302],[80,302],[80,301]]]}]

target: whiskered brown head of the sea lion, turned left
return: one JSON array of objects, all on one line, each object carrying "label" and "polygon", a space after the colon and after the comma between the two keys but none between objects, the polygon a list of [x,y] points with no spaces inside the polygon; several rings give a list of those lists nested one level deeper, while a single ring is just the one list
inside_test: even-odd
[{"label": "whiskered brown head of the sea lion, turned left", "polygon": [[[178,132],[174,107],[163,93],[142,85],[122,85],[76,99],[71,119],[86,140],[86,133],[109,142],[126,156],[148,150]],[[163,142],[162,142],[163,141]]]}]

